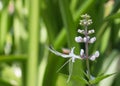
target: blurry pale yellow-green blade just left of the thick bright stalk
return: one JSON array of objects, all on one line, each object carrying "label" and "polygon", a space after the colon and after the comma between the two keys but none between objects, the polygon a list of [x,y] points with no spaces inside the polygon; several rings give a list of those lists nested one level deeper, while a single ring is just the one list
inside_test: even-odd
[{"label": "blurry pale yellow-green blade just left of the thick bright stalk", "polygon": [[[24,52],[24,47],[22,46],[25,43],[24,40],[27,39],[27,33],[25,31],[24,25],[24,16],[23,16],[23,2],[21,0],[17,0],[15,2],[15,14],[14,14],[14,42],[16,47],[16,52],[21,53]],[[22,41],[21,41],[22,40]]]}]

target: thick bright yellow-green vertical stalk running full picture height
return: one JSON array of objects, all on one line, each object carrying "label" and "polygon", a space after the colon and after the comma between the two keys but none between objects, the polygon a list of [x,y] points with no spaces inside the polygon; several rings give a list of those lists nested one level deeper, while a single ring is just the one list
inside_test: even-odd
[{"label": "thick bright yellow-green vertical stalk running full picture height", "polygon": [[29,7],[29,50],[27,58],[27,84],[37,86],[38,43],[39,43],[39,0],[30,0]]}]

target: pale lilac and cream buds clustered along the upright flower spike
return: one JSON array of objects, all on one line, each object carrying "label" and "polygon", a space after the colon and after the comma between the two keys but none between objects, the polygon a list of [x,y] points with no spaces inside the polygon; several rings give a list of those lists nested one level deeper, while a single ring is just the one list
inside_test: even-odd
[{"label": "pale lilac and cream buds clustered along the upright flower spike", "polygon": [[[78,33],[83,34],[84,37],[81,37],[81,36],[75,37],[75,41],[77,43],[85,43],[85,45],[88,49],[88,43],[94,43],[96,41],[96,37],[90,38],[90,36],[89,36],[90,34],[95,33],[95,31],[94,31],[94,29],[92,29],[92,30],[87,29],[87,26],[92,24],[92,20],[90,19],[90,16],[85,14],[85,15],[82,15],[81,17],[83,18],[83,20],[80,20],[80,25],[84,26],[85,29],[84,30],[78,29]],[[86,52],[88,52],[88,51],[86,51]],[[91,56],[87,56],[84,53],[84,50],[81,49],[80,57],[83,59],[89,58],[90,60],[94,61],[97,57],[99,57],[99,51],[96,51]]]}]

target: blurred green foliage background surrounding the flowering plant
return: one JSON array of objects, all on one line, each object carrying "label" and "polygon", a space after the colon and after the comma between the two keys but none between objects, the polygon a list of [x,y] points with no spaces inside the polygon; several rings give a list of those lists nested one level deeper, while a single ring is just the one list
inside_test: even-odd
[{"label": "blurred green foliage background surrounding the flowering plant", "polygon": [[66,83],[69,65],[56,73],[68,59],[49,52],[52,45],[62,48],[84,48],[74,37],[80,16],[93,19],[97,40],[89,53],[100,51],[90,62],[93,77],[116,75],[96,86],[120,86],[120,0],[0,0],[0,86],[86,86],[85,61],[76,60],[72,78]]}]

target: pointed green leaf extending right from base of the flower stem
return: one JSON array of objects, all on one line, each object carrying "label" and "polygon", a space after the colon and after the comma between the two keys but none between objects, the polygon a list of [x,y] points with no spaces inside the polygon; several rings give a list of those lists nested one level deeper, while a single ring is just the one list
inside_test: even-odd
[{"label": "pointed green leaf extending right from base of the flower stem", "polygon": [[97,78],[95,78],[93,80],[90,80],[89,82],[90,82],[90,84],[96,84],[96,83],[99,83],[100,81],[102,81],[103,79],[108,78],[108,77],[110,77],[114,74],[116,74],[116,73],[101,75],[101,76],[98,76]]}]

